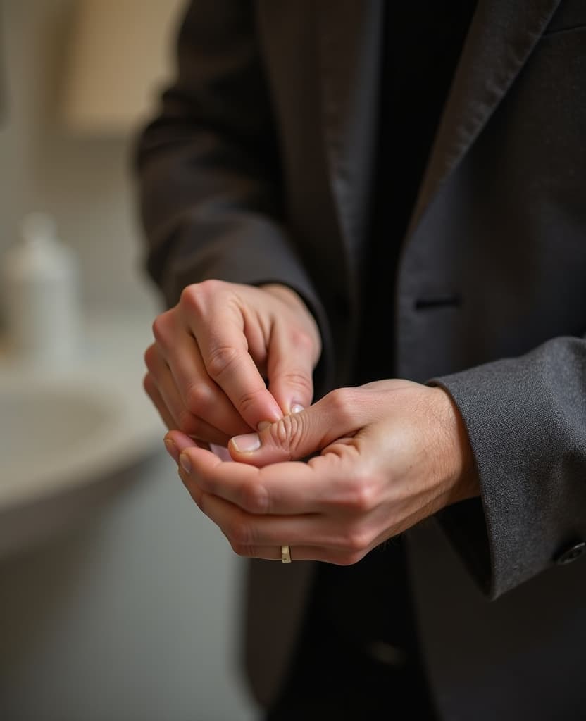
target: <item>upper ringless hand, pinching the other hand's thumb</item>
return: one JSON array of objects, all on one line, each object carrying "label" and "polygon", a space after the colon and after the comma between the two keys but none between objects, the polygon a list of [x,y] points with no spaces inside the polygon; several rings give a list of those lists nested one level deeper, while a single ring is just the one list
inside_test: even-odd
[{"label": "upper ringless hand, pinching the other hand's thumb", "polygon": [[188,286],[153,332],[144,388],[167,428],[225,446],[311,403],[320,335],[285,286]]}]

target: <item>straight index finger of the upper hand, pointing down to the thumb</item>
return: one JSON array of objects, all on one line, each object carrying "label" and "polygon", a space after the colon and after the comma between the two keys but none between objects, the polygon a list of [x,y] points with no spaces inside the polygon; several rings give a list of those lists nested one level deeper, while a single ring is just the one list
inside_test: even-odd
[{"label": "straight index finger of the upper hand, pointing down to the thumb", "polygon": [[282,412],[248,352],[242,310],[234,303],[217,308],[214,294],[209,291],[213,286],[206,287],[208,290],[192,301],[195,312],[185,314],[206,371],[250,428],[274,423]]}]

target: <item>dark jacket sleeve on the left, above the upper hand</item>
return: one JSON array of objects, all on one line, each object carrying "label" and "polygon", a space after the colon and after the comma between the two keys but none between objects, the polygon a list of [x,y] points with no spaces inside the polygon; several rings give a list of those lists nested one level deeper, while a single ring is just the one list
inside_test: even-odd
[{"label": "dark jacket sleeve on the left, above the upper hand", "polygon": [[320,325],[325,385],[328,321],[284,217],[253,4],[192,2],[177,48],[176,79],[136,148],[147,270],[168,306],[207,278],[293,288]]}]

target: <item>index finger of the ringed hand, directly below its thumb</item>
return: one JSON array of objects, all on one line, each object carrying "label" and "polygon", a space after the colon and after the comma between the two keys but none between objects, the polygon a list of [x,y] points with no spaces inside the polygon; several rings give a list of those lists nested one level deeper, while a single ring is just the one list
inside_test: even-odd
[{"label": "index finger of the ringed hand, directly below its thumb", "polygon": [[344,443],[331,446],[327,456],[308,463],[291,461],[258,468],[221,461],[201,448],[185,448],[180,464],[181,477],[196,502],[197,494],[205,492],[248,513],[330,513],[333,506],[344,512],[356,495],[356,449]]}]

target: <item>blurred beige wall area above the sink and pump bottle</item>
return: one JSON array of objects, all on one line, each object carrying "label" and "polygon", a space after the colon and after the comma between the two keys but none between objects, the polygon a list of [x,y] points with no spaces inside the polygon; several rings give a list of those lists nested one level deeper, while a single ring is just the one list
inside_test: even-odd
[{"label": "blurred beige wall area above the sink and pump bottle", "polygon": [[131,138],[74,136],[61,123],[73,0],[4,0],[0,252],[32,210],[55,216],[82,261],[86,304],[155,309],[141,277]]}]

